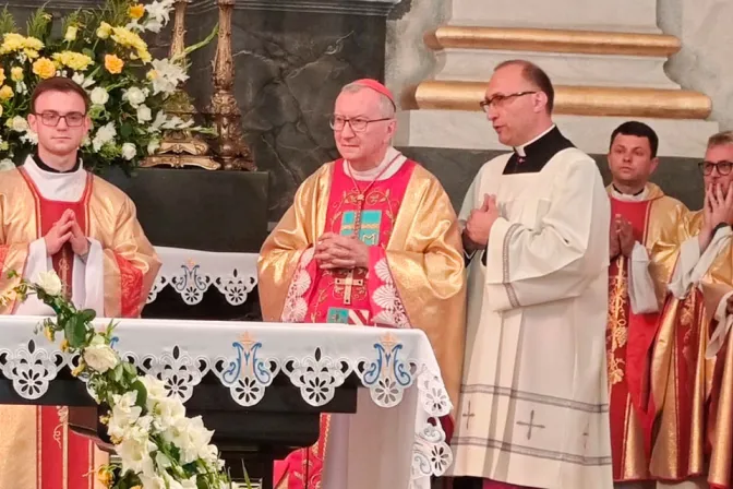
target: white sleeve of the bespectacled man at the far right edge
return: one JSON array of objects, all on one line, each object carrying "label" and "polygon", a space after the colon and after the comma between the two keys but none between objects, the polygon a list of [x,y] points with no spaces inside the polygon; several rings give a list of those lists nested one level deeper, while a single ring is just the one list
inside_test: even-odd
[{"label": "white sleeve of the bespectacled man at the far right edge", "polygon": [[730,242],[732,235],[733,230],[730,227],[719,229],[702,254],[700,254],[700,244],[697,236],[682,243],[680,247],[680,258],[668,286],[674,297],[677,299],[687,297],[689,287],[696,284],[708,272],[713,260]]}]

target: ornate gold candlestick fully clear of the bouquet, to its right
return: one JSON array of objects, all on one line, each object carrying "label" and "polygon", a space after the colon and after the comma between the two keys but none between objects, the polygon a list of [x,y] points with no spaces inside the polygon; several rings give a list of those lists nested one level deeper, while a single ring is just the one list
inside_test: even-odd
[{"label": "ornate gold candlestick fully clear of the bouquet, to its right", "polygon": [[216,151],[225,170],[255,170],[252,152],[244,142],[241,112],[231,92],[235,62],[231,56],[231,12],[233,0],[218,0],[219,35],[214,58],[214,95],[207,108],[217,130]]}]

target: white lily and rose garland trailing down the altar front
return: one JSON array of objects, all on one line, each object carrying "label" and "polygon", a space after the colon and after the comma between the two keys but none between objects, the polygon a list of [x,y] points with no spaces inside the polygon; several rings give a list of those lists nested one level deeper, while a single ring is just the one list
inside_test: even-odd
[{"label": "white lily and rose garland trailing down the altar front", "polygon": [[[17,276],[11,272],[11,276]],[[56,272],[41,273],[38,283],[21,279],[11,291],[17,300],[36,295],[56,318],[39,324],[49,341],[63,334],[61,349],[79,354],[75,377],[85,379],[98,404],[109,406],[101,421],[121,465],[106,465],[98,477],[111,489],[229,489],[213,431],[201,417],[188,418],[177,396],[168,396],[158,379],[137,374],[136,368],[112,348],[115,324],[94,329],[93,310],[79,311],[63,296]],[[10,296],[9,296],[10,297]],[[0,300],[9,300],[4,297]],[[249,482],[248,482],[249,487]]]}]

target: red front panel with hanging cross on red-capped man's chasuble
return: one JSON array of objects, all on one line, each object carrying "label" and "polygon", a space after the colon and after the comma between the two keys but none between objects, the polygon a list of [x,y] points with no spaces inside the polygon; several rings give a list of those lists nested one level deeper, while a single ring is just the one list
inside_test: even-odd
[{"label": "red front panel with hanging cross on red-capped man's chasuble", "polygon": [[[414,165],[408,159],[392,177],[370,183],[355,181],[347,175],[343,159],[335,163],[325,232],[355,237],[368,244],[369,269],[321,270],[311,261],[305,267],[311,277],[311,287],[304,294],[305,322],[400,326],[383,320],[382,311],[397,299],[381,297],[381,290],[384,274],[389,274],[385,249]],[[329,424],[331,416],[322,415],[319,441],[275,464],[277,488],[321,487]]]}]

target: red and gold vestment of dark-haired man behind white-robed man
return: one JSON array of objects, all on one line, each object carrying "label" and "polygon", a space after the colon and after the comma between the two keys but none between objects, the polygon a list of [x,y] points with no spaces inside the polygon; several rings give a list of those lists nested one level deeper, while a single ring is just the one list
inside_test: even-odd
[{"label": "red and gold vestment of dark-haired man behind white-robed man", "polygon": [[[630,302],[630,258],[620,254],[609,269],[609,319],[606,354],[609,415],[613,480],[648,480],[650,434],[653,416],[648,412],[648,356],[654,341],[659,310],[676,260],[674,242],[682,215],[687,212],[676,199],[648,183],[644,199],[626,201],[611,194],[611,215],[632,225],[634,239],[646,248],[658,310],[635,313]],[[613,217],[612,217],[613,218]],[[646,265],[646,263],[645,263]]]}]

